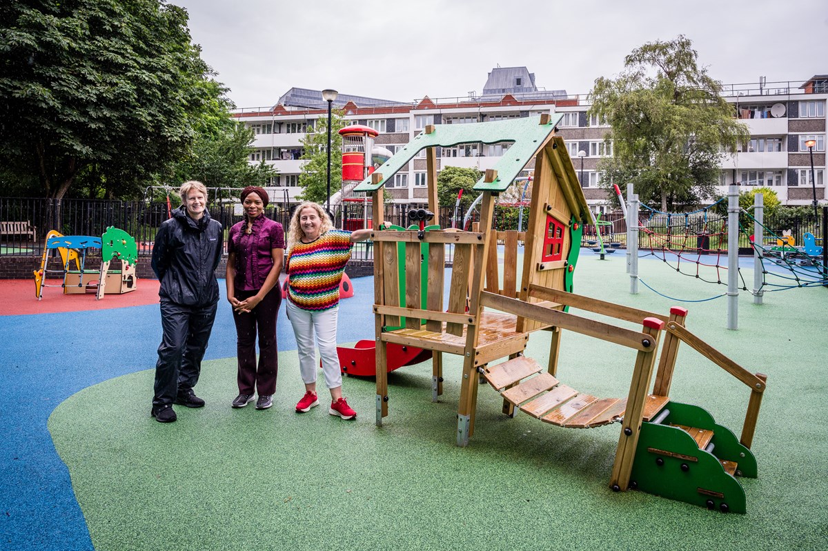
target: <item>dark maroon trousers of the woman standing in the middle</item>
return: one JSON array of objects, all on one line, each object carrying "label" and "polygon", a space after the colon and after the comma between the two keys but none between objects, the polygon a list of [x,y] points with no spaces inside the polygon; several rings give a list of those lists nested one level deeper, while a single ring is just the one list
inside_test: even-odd
[{"label": "dark maroon trousers of the woman standing in the middle", "polygon": [[[248,299],[258,291],[239,291],[239,300]],[[267,293],[256,308],[249,313],[233,312],[236,323],[236,354],[238,357],[238,393],[273,395],[276,393],[276,376],[279,371],[279,354],[276,343],[276,320],[282,304],[279,285]],[[256,365],[256,340],[258,333],[259,359]]]}]

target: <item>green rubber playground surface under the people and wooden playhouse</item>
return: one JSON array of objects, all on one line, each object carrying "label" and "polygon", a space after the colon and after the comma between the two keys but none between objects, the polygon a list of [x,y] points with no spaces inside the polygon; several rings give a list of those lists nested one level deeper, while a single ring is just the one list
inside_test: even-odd
[{"label": "green rubber playground surface under the people and wooden playhouse", "polygon": [[[724,292],[641,261],[667,295]],[[628,294],[623,255],[585,252],[575,292],[666,313],[675,301]],[[746,515],[721,514],[607,487],[620,425],[561,429],[500,413],[481,386],[474,436],[455,446],[460,358],[445,357],[445,392],[431,403],[431,363],[389,374],[389,416],[374,424],[373,379],[347,377],[354,422],[307,414],[295,351],[280,356],[271,410],[232,410],[235,360],[205,362],[201,410],[178,422],[149,416],[153,371],[105,381],[55,409],[49,429],[70,469],[95,549],[826,549],[828,289],[739,297],[739,330],[724,298],[697,304],[687,327],[749,371],[768,375],[753,453],[758,478],[740,479]],[[372,338],[369,305],[363,320]],[[584,314],[573,311],[575,314]],[[628,326],[632,327],[632,326]],[[546,362],[549,333],[527,356]],[[564,333],[558,377],[601,397],[628,392],[635,353]],[[117,358],[110,358],[117,361]],[[320,395],[321,396],[321,395]],[[749,389],[688,347],[672,399],[709,410],[739,434]]]}]

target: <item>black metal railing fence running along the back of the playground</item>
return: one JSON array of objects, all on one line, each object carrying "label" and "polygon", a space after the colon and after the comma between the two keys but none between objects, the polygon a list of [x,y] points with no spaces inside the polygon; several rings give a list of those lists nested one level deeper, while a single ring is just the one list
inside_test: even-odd
[{"label": "black metal railing fence running along the back of the playground", "polygon": [[[46,233],[57,230],[64,235],[99,236],[106,228],[114,226],[128,232],[139,243],[139,254],[146,255],[152,250],[152,242],[161,223],[169,218],[170,209],[176,208],[177,199],[166,198],[147,201],[105,201],[89,199],[21,199],[0,198],[0,254],[38,256],[46,241]],[[243,218],[238,201],[230,202],[227,199],[214,201],[208,205],[210,216],[217,219],[224,226],[224,231]],[[407,204],[383,205],[383,220],[406,228],[411,224],[408,212],[412,206]],[[266,214],[287,230],[290,222],[291,210],[285,204],[270,204]],[[466,213],[467,207],[458,209],[455,215],[454,207],[441,207],[429,224],[439,224],[440,228],[472,229],[473,224],[479,221],[479,210],[472,209]],[[363,202],[345,203],[338,210],[335,225],[349,231],[365,228],[373,214],[372,205]],[[660,215],[662,216],[662,215]],[[498,230],[525,231],[529,218],[527,206],[497,206],[494,212],[494,227]],[[600,226],[601,237],[605,243],[619,243],[626,246],[627,223],[622,213],[603,215]],[[663,218],[663,219],[662,219]],[[642,216],[640,224],[647,226],[652,232],[701,235],[720,232],[724,218],[709,215],[706,218],[685,218],[672,216],[653,218]],[[366,223],[368,220],[368,223]],[[465,226],[464,226],[465,223]],[[740,235],[739,246],[749,247],[748,234],[753,233],[753,224],[742,222],[747,233]],[[780,225],[781,224],[781,225]],[[783,227],[782,227],[783,226]],[[816,235],[815,224],[811,221],[792,220],[784,218],[776,221],[766,218],[766,237],[782,235],[782,231],[790,231],[795,242],[802,243],[806,232]],[[226,233],[225,233],[226,237]],[[820,236],[817,236],[820,237]],[[597,236],[595,225],[585,225],[581,246],[591,246]],[[372,258],[370,244],[359,244],[354,247],[352,257],[368,260]]]}]

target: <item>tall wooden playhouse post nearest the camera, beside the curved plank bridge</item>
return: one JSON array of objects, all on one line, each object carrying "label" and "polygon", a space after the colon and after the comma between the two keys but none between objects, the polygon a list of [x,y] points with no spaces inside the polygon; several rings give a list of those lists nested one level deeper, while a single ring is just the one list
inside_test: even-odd
[{"label": "tall wooden playhouse post nearest the camera, beside the curved plank bridge", "polygon": [[484,191],[480,204],[480,231],[483,232],[483,238],[480,245],[474,246],[477,252],[474,254],[472,273],[476,277],[469,289],[469,314],[473,314],[476,321],[466,326],[463,380],[460,386],[460,404],[457,408],[457,445],[459,446],[467,446],[469,437],[474,434],[474,410],[477,405],[479,385],[479,373],[474,365],[474,356],[480,327],[480,314],[483,311],[480,293],[483,291],[483,271],[489,253],[489,232],[492,231],[493,213],[494,197],[490,191]]}]

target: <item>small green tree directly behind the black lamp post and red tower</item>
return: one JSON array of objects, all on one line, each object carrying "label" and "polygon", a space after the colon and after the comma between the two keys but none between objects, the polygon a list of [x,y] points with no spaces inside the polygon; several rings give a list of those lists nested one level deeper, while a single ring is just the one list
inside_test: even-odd
[{"label": "small green tree directly behind the black lamp post and red tower", "polygon": [[[345,126],[344,111],[334,109],[330,113],[330,194],[342,188],[342,136],[339,130]],[[301,199],[325,204],[328,199],[328,117],[316,119],[313,130],[301,139],[305,151],[301,159],[307,161],[299,174],[299,186],[303,188]],[[368,152],[370,154],[370,152]]]}]

